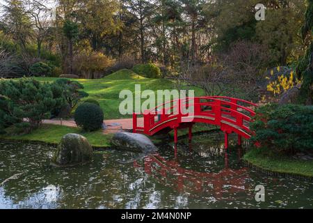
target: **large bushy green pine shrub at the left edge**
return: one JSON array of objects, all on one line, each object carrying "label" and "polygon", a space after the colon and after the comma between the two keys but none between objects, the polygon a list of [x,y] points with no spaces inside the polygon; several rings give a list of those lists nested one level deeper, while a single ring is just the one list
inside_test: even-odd
[{"label": "large bushy green pine shrub at the left edge", "polygon": [[[38,128],[51,111],[65,105],[61,87],[40,83],[33,78],[0,80],[1,125],[15,125],[23,132]],[[27,123],[23,123],[24,119]]]}]

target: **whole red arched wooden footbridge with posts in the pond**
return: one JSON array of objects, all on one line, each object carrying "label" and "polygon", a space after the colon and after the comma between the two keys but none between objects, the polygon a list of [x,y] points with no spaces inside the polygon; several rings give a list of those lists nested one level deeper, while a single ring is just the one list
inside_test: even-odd
[{"label": "whole red arched wooden footbridge with posts in the pond", "polygon": [[[192,138],[192,128],[195,123],[217,125],[225,133],[225,148],[228,147],[228,134],[238,134],[238,144],[241,139],[249,139],[251,130],[249,123],[255,116],[257,105],[238,98],[223,96],[205,96],[183,98],[166,102],[143,114],[133,114],[133,132],[150,136],[168,133],[174,130],[174,141],[177,143],[177,130],[189,129],[189,139]],[[143,126],[138,126],[138,116],[143,115]]]}]

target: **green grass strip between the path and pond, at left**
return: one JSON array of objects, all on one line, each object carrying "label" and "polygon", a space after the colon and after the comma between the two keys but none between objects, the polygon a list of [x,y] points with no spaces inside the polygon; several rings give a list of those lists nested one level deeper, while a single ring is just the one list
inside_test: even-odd
[{"label": "green grass strip between the path and pond, at left", "polygon": [[111,134],[102,134],[102,130],[97,132],[82,132],[80,128],[71,128],[61,125],[42,125],[30,134],[10,135],[0,134],[0,139],[42,141],[50,144],[58,144],[67,133],[81,134],[88,139],[90,144],[95,147],[110,146]]}]

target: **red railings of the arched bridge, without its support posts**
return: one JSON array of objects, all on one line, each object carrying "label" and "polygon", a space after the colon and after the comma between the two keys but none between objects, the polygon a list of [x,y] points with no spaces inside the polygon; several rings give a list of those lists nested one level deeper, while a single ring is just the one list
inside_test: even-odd
[{"label": "red railings of the arched bridge, without its support posts", "polygon": [[[239,103],[248,107],[239,105]],[[182,112],[183,108],[188,109],[190,107],[193,107],[193,112],[188,114]],[[162,123],[171,122],[173,125],[179,125],[179,123],[182,123],[182,118],[203,115],[214,118],[215,124],[227,121],[249,132],[250,130],[245,124],[250,122],[251,118],[255,116],[255,112],[252,110],[254,107],[256,105],[252,102],[223,96],[183,98],[163,103],[154,109],[145,111],[142,127],[138,127],[138,114],[134,114],[133,128],[135,132],[138,130],[145,134],[150,134],[150,130],[155,130]]]}]

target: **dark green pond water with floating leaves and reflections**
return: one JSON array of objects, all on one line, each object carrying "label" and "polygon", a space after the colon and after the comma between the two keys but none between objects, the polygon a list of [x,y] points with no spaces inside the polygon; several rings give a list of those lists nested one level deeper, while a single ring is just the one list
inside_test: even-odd
[{"label": "dark green pond water with floating leaves and reflections", "polygon": [[145,157],[95,152],[68,169],[49,167],[53,146],[0,141],[0,208],[312,208],[312,182],[253,171],[222,141],[207,134]]}]

